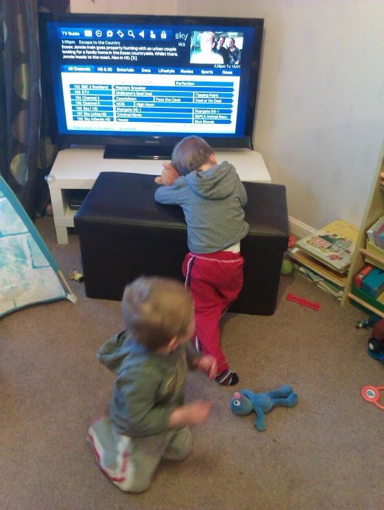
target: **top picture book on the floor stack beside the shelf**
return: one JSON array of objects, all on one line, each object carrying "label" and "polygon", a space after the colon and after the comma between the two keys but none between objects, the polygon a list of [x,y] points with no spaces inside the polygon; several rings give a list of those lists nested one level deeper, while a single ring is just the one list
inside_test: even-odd
[{"label": "top picture book on the floor stack beside the shelf", "polygon": [[295,246],[333,271],[344,273],[351,265],[358,232],[354,225],[343,219],[336,219],[313,234],[299,239]]}]

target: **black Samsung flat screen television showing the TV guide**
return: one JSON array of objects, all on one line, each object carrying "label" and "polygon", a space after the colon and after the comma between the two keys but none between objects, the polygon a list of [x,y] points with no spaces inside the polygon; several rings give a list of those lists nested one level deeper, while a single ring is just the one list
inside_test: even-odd
[{"label": "black Samsung flat screen television showing the TV guide", "polygon": [[[263,19],[39,14],[55,143],[169,158],[185,136],[252,148]],[[233,50],[233,51],[232,51]]]}]

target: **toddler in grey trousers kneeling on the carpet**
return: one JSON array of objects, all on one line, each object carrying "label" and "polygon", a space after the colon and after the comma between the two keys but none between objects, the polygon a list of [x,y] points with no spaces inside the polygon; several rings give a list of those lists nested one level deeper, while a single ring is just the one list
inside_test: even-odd
[{"label": "toddler in grey trousers kneeling on the carpet", "polygon": [[102,345],[100,363],[116,373],[109,416],[89,427],[96,460],[122,491],[145,491],[161,459],[192,451],[190,425],[205,423],[212,403],[184,403],[188,369],[214,380],[214,356],[201,356],[194,302],[181,282],[140,277],[122,298],[126,329]]}]

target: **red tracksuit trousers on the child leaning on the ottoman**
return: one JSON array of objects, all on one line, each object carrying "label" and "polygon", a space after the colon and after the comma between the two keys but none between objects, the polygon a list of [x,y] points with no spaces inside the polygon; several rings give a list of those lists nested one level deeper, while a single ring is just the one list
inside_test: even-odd
[{"label": "red tracksuit trousers on the child leaning on the ottoman", "polygon": [[243,286],[244,258],[240,253],[188,253],[183,262],[185,286],[194,298],[196,336],[203,354],[217,359],[217,373],[228,369],[220,347],[219,320]]}]

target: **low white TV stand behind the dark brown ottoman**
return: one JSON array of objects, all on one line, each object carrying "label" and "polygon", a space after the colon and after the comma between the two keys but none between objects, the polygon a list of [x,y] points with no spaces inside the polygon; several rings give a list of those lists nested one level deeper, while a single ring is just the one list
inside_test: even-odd
[{"label": "low white TV stand behind the dark brown ottoman", "polygon": [[[143,159],[104,159],[104,149],[64,149],[57,154],[51,173],[47,176],[57,243],[68,243],[67,228],[73,227],[76,210],[68,207],[65,190],[90,190],[100,172],[132,172],[161,174],[163,161]],[[230,161],[241,181],[271,183],[262,155],[250,149],[215,150],[218,163]]]}]

